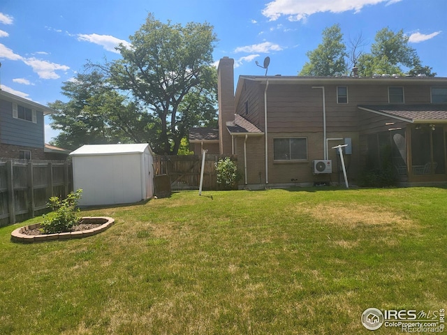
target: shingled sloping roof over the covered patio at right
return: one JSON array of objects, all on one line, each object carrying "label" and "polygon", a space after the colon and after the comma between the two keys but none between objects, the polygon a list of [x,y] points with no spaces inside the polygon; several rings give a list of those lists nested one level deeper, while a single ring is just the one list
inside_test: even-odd
[{"label": "shingled sloping roof over the covered patio at right", "polygon": [[411,123],[447,123],[447,104],[358,105],[358,108]]}]

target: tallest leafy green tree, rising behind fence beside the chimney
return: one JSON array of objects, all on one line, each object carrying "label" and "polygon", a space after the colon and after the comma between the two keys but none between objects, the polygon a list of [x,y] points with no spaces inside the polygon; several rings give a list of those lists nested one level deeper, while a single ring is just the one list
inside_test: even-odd
[{"label": "tallest leafy green tree, rising behind fence beside the chimney", "polygon": [[110,84],[147,108],[154,131],[154,151],[177,154],[192,126],[217,116],[217,72],[212,52],[217,37],[210,24],[166,24],[149,14],[130,36],[131,47],[119,45],[122,59],[105,65]]}]

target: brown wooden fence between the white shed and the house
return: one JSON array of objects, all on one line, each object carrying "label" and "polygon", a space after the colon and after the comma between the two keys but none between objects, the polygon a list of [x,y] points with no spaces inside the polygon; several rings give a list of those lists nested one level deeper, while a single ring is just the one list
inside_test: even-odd
[{"label": "brown wooden fence between the white shed and the house", "polygon": [[[230,157],[237,162],[237,156],[205,155],[205,168],[203,169],[203,190],[217,190],[217,174],[214,163],[219,158]],[[154,173],[156,175],[168,174],[171,189],[198,190],[200,186],[200,169],[202,156],[155,156]]]}]

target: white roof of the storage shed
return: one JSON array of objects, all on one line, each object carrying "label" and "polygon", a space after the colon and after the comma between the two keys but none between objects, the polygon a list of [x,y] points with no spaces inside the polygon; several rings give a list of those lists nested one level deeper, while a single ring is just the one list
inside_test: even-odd
[{"label": "white roof of the storage shed", "polygon": [[70,156],[98,156],[98,155],[123,155],[142,154],[146,149],[152,154],[148,143],[140,144],[84,144],[73,151]]}]

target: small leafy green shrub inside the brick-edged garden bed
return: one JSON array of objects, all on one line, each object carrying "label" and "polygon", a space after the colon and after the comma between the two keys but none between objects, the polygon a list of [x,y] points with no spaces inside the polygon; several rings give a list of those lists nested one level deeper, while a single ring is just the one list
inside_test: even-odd
[{"label": "small leafy green shrub inside the brick-edged garden bed", "polygon": [[43,216],[41,225],[44,234],[56,234],[59,232],[69,232],[74,225],[78,224],[79,209],[76,208],[78,200],[81,198],[82,190],[71,192],[64,200],[59,197],[51,197],[47,207],[55,211]]}]

